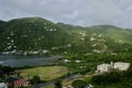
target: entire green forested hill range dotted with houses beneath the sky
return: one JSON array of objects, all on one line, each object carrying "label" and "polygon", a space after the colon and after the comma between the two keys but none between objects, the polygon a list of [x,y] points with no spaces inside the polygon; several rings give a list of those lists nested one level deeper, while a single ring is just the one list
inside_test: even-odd
[{"label": "entire green forested hill range dotted with houses beneath the sky", "polygon": [[0,52],[70,54],[131,52],[132,31],[112,25],[75,26],[42,18],[0,21]]}]

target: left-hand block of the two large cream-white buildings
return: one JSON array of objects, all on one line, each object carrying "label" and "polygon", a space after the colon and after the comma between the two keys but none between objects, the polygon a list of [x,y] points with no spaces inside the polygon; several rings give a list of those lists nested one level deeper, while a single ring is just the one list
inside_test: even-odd
[{"label": "left-hand block of the two large cream-white buildings", "polygon": [[111,68],[110,64],[101,64],[97,66],[96,73],[107,73],[110,70],[110,68]]}]

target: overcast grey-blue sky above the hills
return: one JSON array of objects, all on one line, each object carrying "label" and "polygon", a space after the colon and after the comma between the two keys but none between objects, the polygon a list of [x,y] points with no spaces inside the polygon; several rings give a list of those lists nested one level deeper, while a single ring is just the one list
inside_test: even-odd
[{"label": "overcast grey-blue sky above the hills", "polygon": [[84,26],[132,29],[132,0],[0,0],[0,20],[31,16]]}]

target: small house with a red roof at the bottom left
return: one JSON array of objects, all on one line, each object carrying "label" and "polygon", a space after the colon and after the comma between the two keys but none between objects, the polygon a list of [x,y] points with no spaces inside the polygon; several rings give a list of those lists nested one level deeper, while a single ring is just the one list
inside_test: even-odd
[{"label": "small house with a red roof at the bottom left", "polygon": [[29,87],[29,81],[24,79],[15,80],[14,88],[20,88],[20,87]]}]

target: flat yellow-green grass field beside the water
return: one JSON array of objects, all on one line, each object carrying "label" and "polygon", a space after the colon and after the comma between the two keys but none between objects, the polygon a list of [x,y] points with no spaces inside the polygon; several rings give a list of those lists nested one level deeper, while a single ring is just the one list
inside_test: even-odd
[{"label": "flat yellow-green grass field beside the water", "polygon": [[24,79],[29,79],[37,75],[42,80],[56,79],[68,73],[67,67],[64,66],[34,67],[21,69],[20,72]]}]

